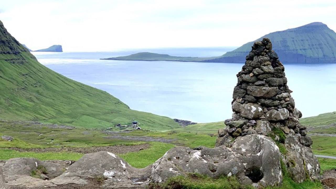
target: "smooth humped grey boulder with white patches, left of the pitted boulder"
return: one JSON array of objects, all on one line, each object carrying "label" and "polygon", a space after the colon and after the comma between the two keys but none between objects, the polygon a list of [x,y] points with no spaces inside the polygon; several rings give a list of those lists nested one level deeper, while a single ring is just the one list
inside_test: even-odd
[{"label": "smooth humped grey boulder with white patches, left of the pitted boulder", "polygon": [[144,187],[150,175],[150,167],[136,169],[119,156],[106,151],[85,154],[72,164],[53,184],[85,185],[89,179],[104,178],[103,188]]}]

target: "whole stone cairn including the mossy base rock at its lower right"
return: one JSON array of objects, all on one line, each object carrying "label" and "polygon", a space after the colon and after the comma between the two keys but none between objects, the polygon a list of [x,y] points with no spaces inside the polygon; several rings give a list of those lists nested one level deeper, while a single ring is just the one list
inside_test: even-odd
[{"label": "whole stone cairn including the mossy base rock at its lower right", "polygon": [[315,180],[319,178],[320,165],[312,154],[312,140],[306,136],[306,127],[299,123],[302,113],[295,108],[284,70],[269,39],[253,44],[237,74],[234,113],[225,120],[226,128],[218,131],[216,146],[232,147],[240,136],[271,136],[286,148],[282,160],[293,180]]}]

